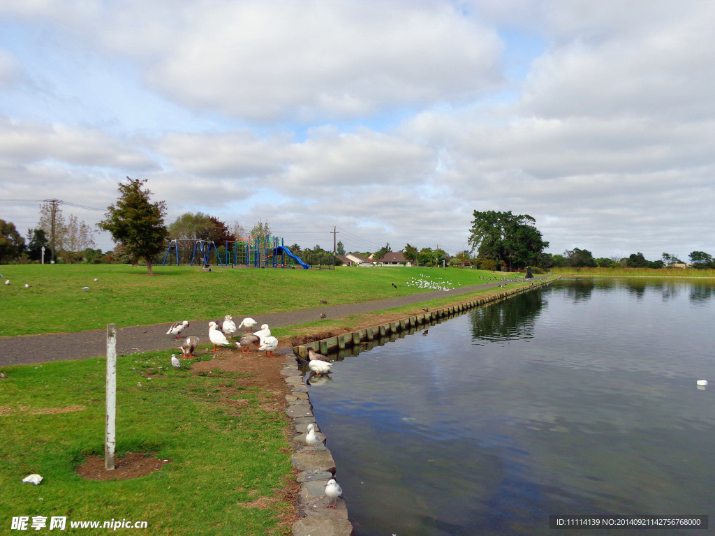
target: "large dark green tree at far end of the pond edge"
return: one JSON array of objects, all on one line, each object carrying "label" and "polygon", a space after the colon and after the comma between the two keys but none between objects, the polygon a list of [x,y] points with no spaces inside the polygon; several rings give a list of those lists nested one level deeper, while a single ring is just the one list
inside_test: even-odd
[{"label": "large dark green tree at far end of the pond edge", "polygon": [[477,249],[478,257],[506,263],[511,272],[515,268],[537,266],[541,254],[548,247],[536,219],[528,214],[474,211],[469,244]]}]

